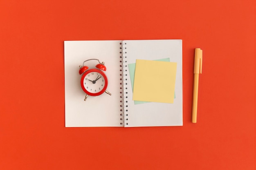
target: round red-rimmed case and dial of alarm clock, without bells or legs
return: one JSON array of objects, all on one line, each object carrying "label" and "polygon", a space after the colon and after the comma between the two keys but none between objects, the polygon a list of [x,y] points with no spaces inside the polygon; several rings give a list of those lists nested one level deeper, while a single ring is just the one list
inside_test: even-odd
[{"label": "round red-rimmed case and dial of alarm clock, without bells or legs", "polygon": [[88,95],[101,95],[106,91],[107,86],[108,79],[106,75],[98,69],[90,69],[81,77],[81,87]]}]

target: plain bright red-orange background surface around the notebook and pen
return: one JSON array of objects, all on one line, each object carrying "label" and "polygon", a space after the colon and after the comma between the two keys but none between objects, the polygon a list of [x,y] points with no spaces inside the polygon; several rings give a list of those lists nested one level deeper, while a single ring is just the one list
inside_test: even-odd
[{"label": "plain bright red-orange background surface around the notebook and pen", "polygon": [[[253,170],[254,0],[1,0],[1,170]],[[182,127],[65,128],[64,40],[183,40]],[[194,49],[203,50],[191,123]]]}]

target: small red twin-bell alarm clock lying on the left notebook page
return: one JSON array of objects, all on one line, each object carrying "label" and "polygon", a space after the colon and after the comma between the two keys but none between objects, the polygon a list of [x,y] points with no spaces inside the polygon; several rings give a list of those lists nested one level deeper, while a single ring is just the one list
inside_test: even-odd
[{"label": "small red twin-bell alarm clock lying on the left notebook page", "polygon": [[[89,69],[88,66],[84,66],[84,63],[89,60],[97,60],[99,64],[95,66],[96,68]],[[111,93],[106,91],[108,87],[108,78],[105,73],[103,73],[103,71],[107,70],[104,62],[100,62],[98,59],[89,60],[85,60],[83,66],[79,66],[79,74],[82,75],[81,87],[86,93],[84,101],[86,101],[88,95],[98,96],[104,92],[111,95]]]}]

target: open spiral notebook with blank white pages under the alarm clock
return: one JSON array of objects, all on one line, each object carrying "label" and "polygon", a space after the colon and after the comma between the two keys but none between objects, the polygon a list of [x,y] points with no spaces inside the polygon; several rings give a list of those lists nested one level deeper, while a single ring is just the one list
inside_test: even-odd
[{"label": "open spiral notebook with blank white pages under the alarm clock", "polygon": [[[105,63],[112,95],[88,96],[84,101],[79,65],[93,58]],[[183,125],[182,40],[64,41],[64,60],[65,127]],[[86,62],[89,68],[96,64]],[[159,68],[168,69],[159,72]],[[156,81],[154,73],[164,81]],[[169,73],[175,77],[167,78]],[[141,82],[141,77],[149,81]],[[166,90],[157,96],[154,92],[163,84]]]}]

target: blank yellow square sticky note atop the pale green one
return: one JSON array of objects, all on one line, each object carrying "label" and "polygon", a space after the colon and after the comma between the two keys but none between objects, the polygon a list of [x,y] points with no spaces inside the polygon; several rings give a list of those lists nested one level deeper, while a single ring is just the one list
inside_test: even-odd
[{"label": "blank yellow square sticky note atop the pale green one", "polygon": [[132,99],[173,103],[176,62],[136,60]]}]

